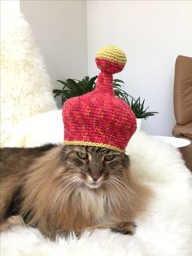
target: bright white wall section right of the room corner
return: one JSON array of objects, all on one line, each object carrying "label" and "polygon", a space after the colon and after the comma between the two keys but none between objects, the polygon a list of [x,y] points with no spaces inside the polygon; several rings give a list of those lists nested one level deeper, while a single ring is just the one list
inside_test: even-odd
[{"label": "bright white wall section right of the room corner", "polygon": [[98,74],[94,57],[99,47],[122,47],[128,63],[116,77],[159,112],[144,121],[142,130],[171,135],[175,60],[192,56],[192,2],[87,1],[87,36],[89,75]]}]

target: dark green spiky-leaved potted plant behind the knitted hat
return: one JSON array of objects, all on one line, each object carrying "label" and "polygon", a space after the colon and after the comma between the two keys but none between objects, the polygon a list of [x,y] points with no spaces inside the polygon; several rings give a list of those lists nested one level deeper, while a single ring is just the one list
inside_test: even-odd
[{"label": "dark green spiky-leaved potted plant behind the knitted hat", "polygon": [[[89,76],[84,77],[82,80],[77,79],[66,79],[64,81],[57,80],[63,85],[62,89],[55,89],[53,93],[55,97],[60,97],[62,105],[65,103],[67,99],[70,99],[75,96],[84,95],[85,93],[94,90],[96,85],[96,79],[98,76],[91,77]],[[141,121],[144,118],[152,117],[158,112],[149,112],[148,108],[145,107],[145,99],[141,99],[138,97],[134,99],[131,95],[129,95],[122,87],[124,86],[124,82],[120,79],[113,80],[113,88],[115,95],[118,96],[120,99],[123,99],[127,104],[129,104],[130,108],[132,108],[133,113],[137,117],[137,129],[140,129]],[[138,129],[138,130],[139,130]]]}]

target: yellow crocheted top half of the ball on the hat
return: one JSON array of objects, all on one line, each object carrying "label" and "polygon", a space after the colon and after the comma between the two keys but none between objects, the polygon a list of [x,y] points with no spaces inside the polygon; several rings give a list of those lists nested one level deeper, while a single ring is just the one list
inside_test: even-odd
[{"label": "yellow crocheted top half of the ball on the hat", "polygon": [[104,60],[111,60],[120,64],[125,64],[127,61],[126,55],[117,46],[104,46],[98,51],[96,57]]}]

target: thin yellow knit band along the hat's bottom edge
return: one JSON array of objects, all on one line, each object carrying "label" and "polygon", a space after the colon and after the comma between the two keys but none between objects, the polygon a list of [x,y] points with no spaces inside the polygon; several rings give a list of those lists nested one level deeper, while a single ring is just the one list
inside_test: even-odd
[{"label": "thin yellow knit band along the hat's bottom edge", "polygon": [[74,140],[74,141],[64,141],[64,144],[67,145],[81,145],[81,146],[94,146],[94,147],[101,147],[101,148],[109,148],[111,150],[116,150],[117,152],[121,152],[124,153],[125,150],[117,148],[115,146],[111,146],[108,145],[106,143],[95,143],[95,142],[89,142],[89,141],[78,141],[78,140]]}]

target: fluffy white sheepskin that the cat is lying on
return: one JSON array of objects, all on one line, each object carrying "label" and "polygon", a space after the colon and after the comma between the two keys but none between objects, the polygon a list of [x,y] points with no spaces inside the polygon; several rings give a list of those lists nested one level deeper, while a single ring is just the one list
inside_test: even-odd
[{"label": "fluffy white sheepskin that the cat is lying on", "polygon": [[[35,143],[28,139],[30,146],[63,141],[63,123],[59,119],[53,124],[49,119],[52,114],[45,113],[44,118],[33,117],[33,127],[39,128],[34,135],[33,129],[28,130],[32,121],[23,123],[23,129],[29,131],[25,138],[36,135]],[[50,126],[47,126],[48,119]],[[45,131],[43,142],[41,135]],[[180,152],[172,145],[137,132],[129,142],[127,153],[133,175],[155,193],[145,218],[137,218],[137,230],[133,236],[107,229],[87,231],[80,239],[72,235],[68,240],[58,237],[57,241],[49,241],[35,228],[13,227],[1,234],[1,255],[191,256],[192,175],[185,167]]]}]

